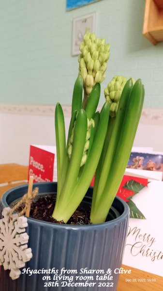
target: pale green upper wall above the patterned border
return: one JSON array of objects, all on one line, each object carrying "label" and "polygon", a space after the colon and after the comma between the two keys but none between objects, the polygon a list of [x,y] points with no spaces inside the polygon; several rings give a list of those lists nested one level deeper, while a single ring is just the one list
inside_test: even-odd
[{"label": "pale green upper wall above the patterned border", "polygon": [[97,11],[97,35],[111,44],[102,91],[115,74],[142,78],[145,107],[163,107],[163,43],[154,47],[142,36],[144,6],[102,0],[66,12],[65,0],[0,0],[0,103],[71,104],[78,73],[72,20]]}]

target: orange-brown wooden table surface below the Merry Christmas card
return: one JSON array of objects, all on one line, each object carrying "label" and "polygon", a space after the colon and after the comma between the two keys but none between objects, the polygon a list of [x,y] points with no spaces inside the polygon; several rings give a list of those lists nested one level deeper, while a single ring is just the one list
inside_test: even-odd
[{"label": "orange-brown wooden table surface below the Merry Christmas card", "polygon": [[[117,291],[163,291],[163,277],[122,265],[131,274],[120,274]],[[127,281],[128,280],[128,281]]]}]

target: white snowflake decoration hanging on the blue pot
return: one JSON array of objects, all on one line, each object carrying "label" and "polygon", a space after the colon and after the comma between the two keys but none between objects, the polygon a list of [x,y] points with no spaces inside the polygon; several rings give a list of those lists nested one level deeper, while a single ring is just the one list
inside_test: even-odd
[{"label": "white snowflake decoration hanging on the blue pot", "polygon": [[12,214],[9,218],[10,207],[4,208],[0,219],[0,265],[4,270],[11,270],[10,277],[15,280],[21,272],[19,268],[32,258],[31,248],[28,248],[29,236],[25,232],[28,226],[27,217]]}]

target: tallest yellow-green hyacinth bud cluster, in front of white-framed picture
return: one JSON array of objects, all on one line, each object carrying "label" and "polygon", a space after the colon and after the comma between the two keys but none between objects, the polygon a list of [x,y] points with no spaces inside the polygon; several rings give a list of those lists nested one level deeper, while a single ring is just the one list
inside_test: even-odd
[{"label": "tallest yellow-green hyacinth bud cluster, in front of white-framed picture", "polygon": [[110,45],[105,44],[105,39],[98,38],[95,33],[87,31],[80,44],[80,51],[79,74],[89,95],[95,83],[101,83],[105,78]]}]

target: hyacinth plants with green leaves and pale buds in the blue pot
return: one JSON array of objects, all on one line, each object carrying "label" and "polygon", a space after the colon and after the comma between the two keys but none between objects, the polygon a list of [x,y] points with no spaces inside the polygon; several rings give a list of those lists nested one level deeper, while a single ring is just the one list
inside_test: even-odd
[{"label": "hyacinth plants with green leaves and pale buds in the blue pot", "polygon": [[144,86],[140,79],[134,82],[132,78],[115,76],[104,90],[106,100],[101,112],[96,112],[109,49],[104,39],[86,32],[80,45],[67,143],[63,111],[59,103],[56,106],[58,189],[52,217],[57,221],[67,223],[96,173],[90,221],[103,223],[130,157]]}]

